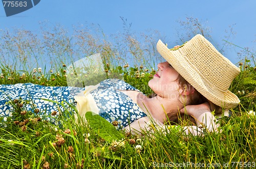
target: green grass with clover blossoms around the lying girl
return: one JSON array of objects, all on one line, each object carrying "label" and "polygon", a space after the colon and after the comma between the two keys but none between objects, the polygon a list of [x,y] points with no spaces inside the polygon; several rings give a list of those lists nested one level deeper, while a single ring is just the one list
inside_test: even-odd
[{"label": "green grass with clover blossoms around the lying girl", "polygon": [[[24,31],[22,33],[24,34]],[[31,34],[26,35],[27,38],[34,39]],[[59,33],[58,35],[63,34]],[[78,35],[76,34],[77,37],[79,37]],[[90,38],[89,34],[86,37]],[[127,37],[130,39],[126,40],[132,38],[131,35]],[[48,37],[49,39],[50,37]],[[80,37],[81,39],[83,38]],[[60,44],[64,43],[60,39],[55,39],[55,41],[61,42]],[[51,44],[50,42],[51,40],[45,44],[46,47]],[[138,43],[136,42],[136,44]],[[31,45],[31,43],[27,44],[27,46]],[[36,46],[35,43],[33,45]],[[57,45],[55,44],[55,46]],[[97,47],[104,48],[105,55],[110,55],[110,57],[116,51],[111,44],[108,47],[95,46],[95,48]],[[135,52],[139,48],[141,46],[135,45],[130,49],[131,52]],[[35,53],[38,50],[27,50],[24,53],[31,54],[32,52],[29,51]],[[84,50],[86,50],[85,47]],[[67,50],[54,49],[54,52],[57,51],[59,52],[57,55],[61,56],[61,52]],[[139,50],[139,54],[143,55],[142,51]],[[10,53],[17,52],[21,51],[12,50]],[[105,55],[103,54],[103,56]],[[33,54],[30,56],[33,57]],[[115,59],[117,60],[117,58]],[[152,92],[147,86],[147,81],[155,74],[153,66],[145,68],[146,62],[143,61],[136,61],[143,63],[137,66],[136,64],[129,66],[126,62],[118,64],[119,61],[113,64],[113,62],[108,62],[110,61],[108,59],[104,61],[107,76],[111,73],[122,74],[126,82],[143,93],[150,94]],[[234,168],[237,166],[238,168],[248,168],[255,166],[256,123],[253,112],[256,111],[256,69],[251,64],[253,62],[254,58],[252,57],[250,60],[245,58],[244,62],[240,63],[241,73],[230,86],[231,92],[238,95],[241,104],[231,110],[232,117],[223,117],[219,120],[221,132],[205,132],[204,136],[184,136],[180,126],[166,127],[163,132],[157,130],[154,125],[142,136],[133,135],[117,131],[112,124],[106,123],[100,117],[95,120],[90,117],[90,114],[87,114],[90,126],[81,119],[76,123],[72,116],[67,117],[69,111],[62,112],[62,116],[57,118],[61,125],[53,125],[44,120],[46,117],[39,117],[31,111],[25,113],[23,106],[20,106],[22,100],[13,100],[10,102],[14,107],[13,117],[0,123],[0,167]],[[72,79],[77,79],[76,72],[67,72],[68,67],[65,60],[62,59],[58,61],[58,64],[52,64],[50,68],[38,69],[37,65],[36,69],[31,69],[28,64],[30,64],[29,61],[24,62],[23,70],[11,67],[8,63],[2,63],[0,83],[32,82],[45,86],[67,86],[67,77],[74,76]],[[86,73],[81,73],[80,76]],[[26,104],[26,102],[23,103]],[[75,107],[74,112],[76,112]]]}]

